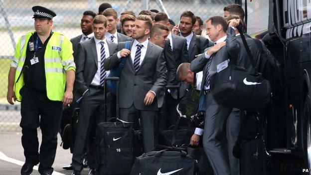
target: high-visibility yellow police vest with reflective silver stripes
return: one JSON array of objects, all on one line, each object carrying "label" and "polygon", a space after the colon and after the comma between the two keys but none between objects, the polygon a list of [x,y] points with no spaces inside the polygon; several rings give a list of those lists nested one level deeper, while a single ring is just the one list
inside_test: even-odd
[{"label": "high-visibility yellow police vest with reflective silver stripes", "polygon": [[[17,101],[21,101],[19,90],[24,86],[22,69],[25,63],[28,40],[34,32],[21,36],[17,42],[10,66],[16,68],[14,92]],[[61,33],[53,31],[44,53],[44,70],[47,97],[61,101],[65,91],[68,70],[76,70],[72,56],[72,43]]]}]

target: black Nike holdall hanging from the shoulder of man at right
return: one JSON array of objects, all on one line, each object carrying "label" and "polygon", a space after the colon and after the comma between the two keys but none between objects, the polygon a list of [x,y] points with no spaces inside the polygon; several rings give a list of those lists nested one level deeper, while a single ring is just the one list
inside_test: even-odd
[{"label": "black Nike holdall hanging from the shoulder of man at right", "polygon": [[[240,34],[250,62],[258,72],[242,30]],[[233,65],[230,62],[225,69],[211,76],[210,89],[217,103],[233,108],[257,111],[272,105],[269,81],[261,73],[251,74],[243,67]]]}]

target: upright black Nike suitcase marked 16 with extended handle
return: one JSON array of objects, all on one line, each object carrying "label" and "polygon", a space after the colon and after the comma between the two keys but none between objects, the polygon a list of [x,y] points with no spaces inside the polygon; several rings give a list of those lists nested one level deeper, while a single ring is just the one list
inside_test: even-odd
[{"label": "upright black Nike suitcase marked 16 with extended handle", "polygon": [[[119,80],[108,77],[106,80]],[[119,81],[117,83],[119,87]],[[105,83],[105,96],[107,85]],[[117,93],[117,117],[119,117],[119,101]],[[106,105],[105,105],[106,107]],[[106,111],[105,111],[106,112]],[[133,123],[111,118],[109,122],[102,122],[96,127],[96,160],[98,175],[127,175],[131,172],[134,130]]]}]

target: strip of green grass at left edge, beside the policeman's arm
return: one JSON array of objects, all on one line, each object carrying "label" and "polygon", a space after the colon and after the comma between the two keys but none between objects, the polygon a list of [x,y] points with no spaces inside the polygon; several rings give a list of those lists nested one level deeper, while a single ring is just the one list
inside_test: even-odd
[{"label": "strip of green grass at left edge, beside the policeman's arm", "polygon": [[7,74],[10,62],[10,59],[0,59],[0,103],[6,102]]}]

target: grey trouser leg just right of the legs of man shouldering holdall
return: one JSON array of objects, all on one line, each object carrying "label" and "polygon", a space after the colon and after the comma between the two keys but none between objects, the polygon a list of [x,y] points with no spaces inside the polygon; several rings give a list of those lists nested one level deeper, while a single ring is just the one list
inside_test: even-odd
[{"label": "grey trouser leg just right of the legs of man shouldering holdall", "polygon": [[240,161],[232,154],[233,147],[239,136],[241,126],[240,116],[240,110],[234,108],[229,115],[226,124],[227,149],[231,175],[240,175]]}]

